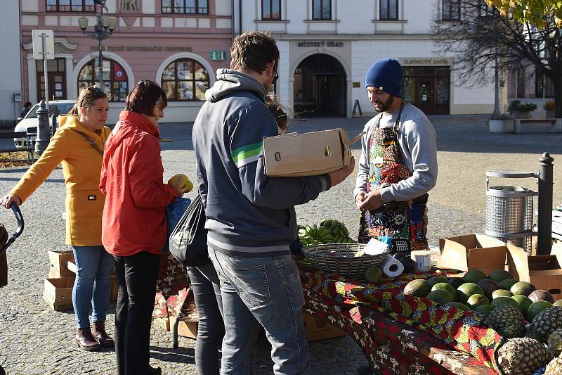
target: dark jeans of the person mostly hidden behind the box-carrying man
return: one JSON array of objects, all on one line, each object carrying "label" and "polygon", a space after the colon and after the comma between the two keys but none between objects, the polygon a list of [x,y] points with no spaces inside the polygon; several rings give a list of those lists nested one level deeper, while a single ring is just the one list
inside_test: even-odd
[{"label": "dark jeans of the person mostly hidden behind the box-carrying man", "polygon": [[221,287],[211,262],[199,267],[188,267],[188,276],[199,312],[195,364],[200,375],[218,375],[218,349],[224,336]]}]

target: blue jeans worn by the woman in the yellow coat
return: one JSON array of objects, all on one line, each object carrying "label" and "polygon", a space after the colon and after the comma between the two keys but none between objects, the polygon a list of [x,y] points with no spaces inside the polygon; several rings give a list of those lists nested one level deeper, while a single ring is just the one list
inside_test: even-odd
[{"label": "blue jeans worn by the woman in the yellow coat", "polygon": [[92,322],[105,322],[110,302],[113,257],[103,246],[72,246],[76,260],[76,280],[72,288],[72,305],[77,328]]}]

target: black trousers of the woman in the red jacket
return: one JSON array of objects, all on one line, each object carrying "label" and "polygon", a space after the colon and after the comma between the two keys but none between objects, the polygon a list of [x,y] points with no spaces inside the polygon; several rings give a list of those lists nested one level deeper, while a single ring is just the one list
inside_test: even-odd
[{"label": "black trousers of the woman in the red jacket", "polygon": [[119,287],[115,309],[117,375],[150,374],[150,324],[160,257],[141,251],[114,258]]}]

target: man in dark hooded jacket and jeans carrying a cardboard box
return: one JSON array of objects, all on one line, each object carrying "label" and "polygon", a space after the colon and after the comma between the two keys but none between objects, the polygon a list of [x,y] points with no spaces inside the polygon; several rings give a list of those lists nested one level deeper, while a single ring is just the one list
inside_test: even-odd
[{"label": "man in dark hooded jacket and jeans carrying a cardboard box", "polygon": [[245,32],[230,49],[229,69],[193,125],[209,258],[221,286],[225,337],[221,374],[249,374],[261,324],[274,374],[308,374],[299,272],[289,252],[297,238],[294,205],[342,182],[355,165],[311,177],[267,177],[263,138],[277,135],[265,98],[277,79],[279,50],[264,32]]}]

